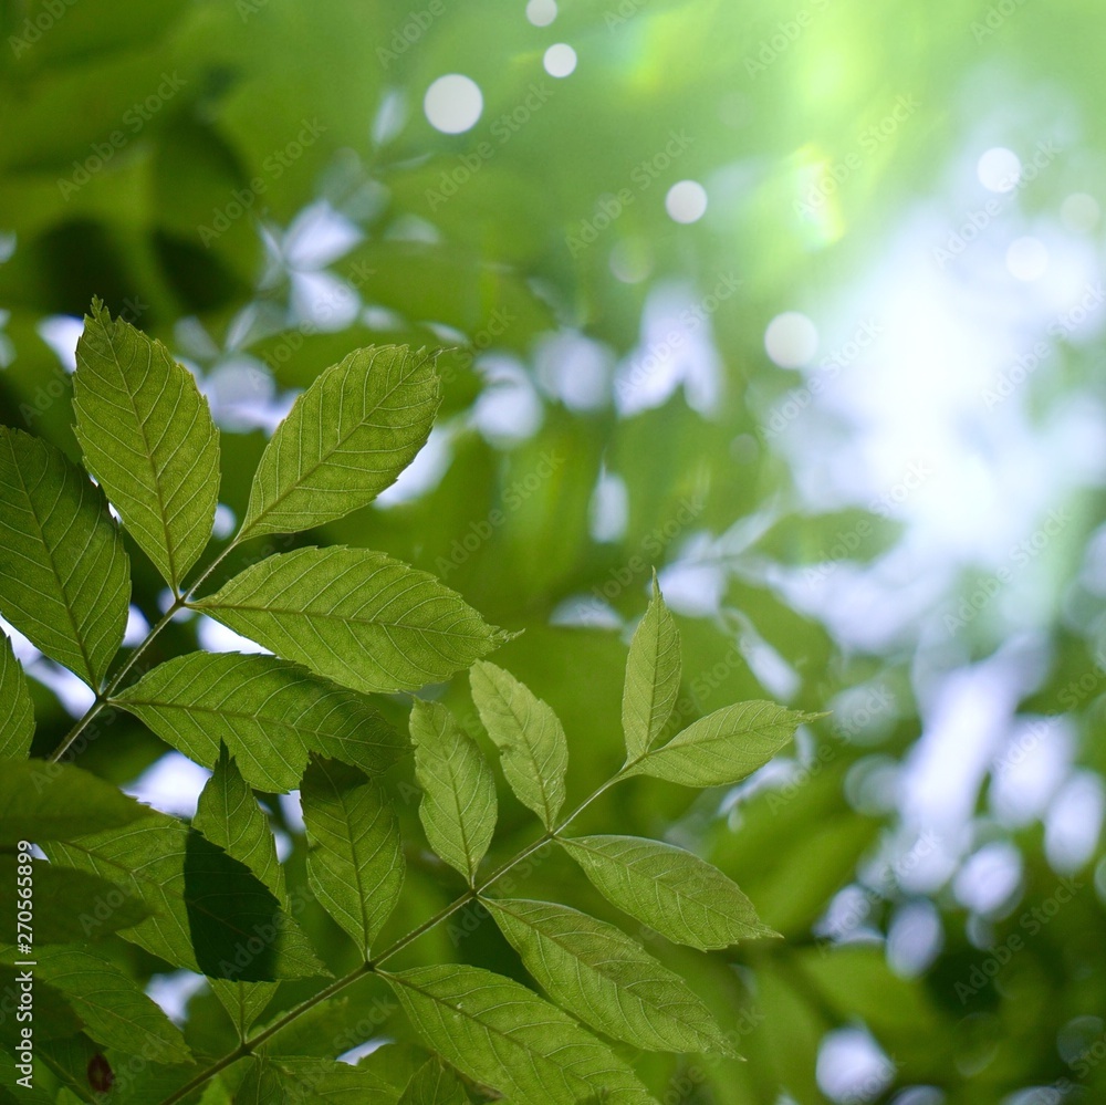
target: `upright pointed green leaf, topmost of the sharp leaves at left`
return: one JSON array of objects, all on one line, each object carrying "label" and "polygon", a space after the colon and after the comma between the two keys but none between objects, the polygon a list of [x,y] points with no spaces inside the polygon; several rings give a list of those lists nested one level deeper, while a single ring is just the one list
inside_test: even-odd
[{"label": "upright pointed green leaf, topmost of the sharp leaves at left", "polygon": [[219,431],[192,374],[93,300],[76,346],[76,439],[138,548],[174,590],[219,500]]}]

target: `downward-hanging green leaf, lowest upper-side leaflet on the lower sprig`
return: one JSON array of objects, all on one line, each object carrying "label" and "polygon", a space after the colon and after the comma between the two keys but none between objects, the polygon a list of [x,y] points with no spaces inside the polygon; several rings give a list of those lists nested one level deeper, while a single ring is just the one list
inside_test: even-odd
[{"label": "downward-hanging green leaf, lowest upper-side leaflet on the lower sprig", "polygon": [[311,763],[300,796],[310,847],[307,880],[367,960],[404,883],[395,812],[378,783],[334,761]]}]

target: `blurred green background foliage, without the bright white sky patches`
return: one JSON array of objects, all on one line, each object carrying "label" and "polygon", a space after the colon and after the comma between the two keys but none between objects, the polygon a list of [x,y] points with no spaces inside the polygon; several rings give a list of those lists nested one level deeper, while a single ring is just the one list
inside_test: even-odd
[{"label": "blurred green background foliage, without the bright white sky patches", "polygon": [[[830,296],[870,264],[908,204],[945,186],[972,111],[1001,107],[1003,88],[1016,84],[1027,96],[1026,88],[1060,86],[1082,108],[1078,149],[1046,189],[1026,190],[1029,209],[1067,187],[1091,190],[1106,144],[1098,8],[566,0],[551,27],[529,22],[522,0],[7,0],[0,11],[0,233],[11,236],[0,264],[6,423],[77,456],[69,378],[41,326],[80,317],[94,295],[159,336],[211,387],[227,364],[250,366],[249,378],[264,382],[253,398],[271,387],[302,389],[358,345],[444,344],[448,467],[440,480],[388,509],[274,539],[268,551],[380,549],[445,576],[490,622],[525,630],[497,663],[564,720],[576,798],[617,765],[628,633],[645,608],[651,569],[678,561],[692,536],[717,540],[724,583],[721,613],[680,616],[685,721],[765,697],[764,670],[747,663],[764,646],[794,676],[793,708],[816,711],[849,701],[842,696],[853,688],[889,688],[864,723],[838,710],[815,726],[816,743],[801,749],[790,780],[775,776],[721,807],[714,795],[690,809],[672,788],[638,780],[612,799],[617,828],[595,826],[667,835],[709,856],[786,936],[713,953],[707,967],[665,948],[738,1034],[748,1062],[653,1056],[641,1068],[660,1101],[830,1099],[816,1074],[820,1047],[827,1033],[857,1028],[887,1062],[870,1095],[841,1099],[1030,1105],[1076,1092],[1106,1099],[1104,868],[1082,863],[1071,873],[1078,887],[1071,901],[1045,924],[1025,921],[1053,908],[1061,875],[1046,858],[1040,821],[1010,828],[988,817],[984,784],[973,798],[981,820],[972,841],[1013,842],[1022,892],[980,918],[951,882],[931,890],[940,950],[920,974],[896,973],[883,937],[896,910],[926,895],[905,889],[894,872],[878,874],[899,822],[886,803],[857,800],[854,782],[875,759],[894,765],[908,755],[919,734],[914,650],[842,647],[749,570],[867,562],[900,536],[897,522],[851,504],[830,502],[818,514],[801,505],[786,456],[762,423],[796,383],[764,356],[766,322]],[[565,80],[542,67],[557,41],[578,55]],[[470,76],[483,95],[479,122],[459,135],[434,129],[421,107],[430,83],[451,72]],[[973,88],[984,91],[973,100]],[[1048,137],[1045,126],[1039,137]],[[827,187],[835,170],[847,180]],[[710,217],[672,221],[664,202],[670,185],[708,177]],[[825,201],[808,218],[796,205],[818,188]],[[322,260],[306,249],[310,236],[301,232],[298,244],[289,233],[320,204],[359,231]],[[959,217],[950,210],[951,227]],[[581,247],[587,238],[594,243]],[[619,270],[635,279],[616,279]],[[317,281],[320,272],[330,284]],[[609,372],[639,342],[647,299],[666,279],[684,282],[677,294],[689,310],[712,292],[721,296],[727,279],[740,281],[702,327],[721,364],[713,409],[703,413],[677,390],[624,417],[609,402],[567,404],[542,383],[534,366],[543,335],[586,335],[599,351],[596,371]],[[344,314],[340,306],[354,298],[361,309]],[[855,325],[846,319],[842,330]],[[501,386],[489,377],[492,355],[517,358],[536,388],[532,432],[497,438],[471,417]],[[549,357],[555,362],[555,351]],[[1085,377],[1088,357],[1065,354],[1068,383]],[[225,423],[221,501],[239,518],[264,440],[257,428],[234,432]],[[598,540],[592,524],[604,472],[625,482],[626,524],[613,540]],[[1100,494],[1087,492],[1041,583],[1039,628],[1052,658],[1022,696],[1026,712],[1071,715],[1083,738],[1078,759],[1094,772],[1106,767],[1096,740],[1102,601],[1081,592],[1076,575],[1102,515]],[[853,533],[855,548],[827,553]],[[153,621],[160,583],[140,556],[134,563],[136,603]],[[231,557],[226,576],[242,566],[241,554]],[[573,598],[593,609],[602,598],[596,624],[551,623]],[[1072,604],[1091,613],[1070,617]],[[989,656],[1005,635],[989,611],[958,638],[962,661]],[[150,659],[194,642],[195,623],[175,624]],[[35,753],[43,754],[69,717],[44,686],[33,689]],[[463,680],[444,700],[480,732]],[[382,708],[406,728],[401,702]],[[82,765],[115,782],[165,750],[125,717],[97,731],[106,739],[91,742]],[[395,782],[408,784],[410,770],[394,769]],[[492,861],[497,849],[505,856],[526,843],[529,831],[509,793],[500,803]],[[272,812],[293,842],[288,875],[302,890],[303,837],[275,801]],[[419,838],[414,801],[403,816],[407,838]],[[551,856],[535,867],[526,896],[556,894],[564,862]],[[429,855],[408,856],[408,872],[411,908],[429,914],[456,889],[452,873]],[[851,936],[863,928],[865,938],[838,948],[814,928],[839,890],[858,885],[867,914]],[[578,905],[611,916],[597,894]],[[314,905],[301,919],[316,947],[345,947]],[[1013,935],[1022,950],[994,966],[995,949]],[[133,947],[121,945],[119,955],[139,976],[159,970]],[[335,972],[352,966],[332,955]],[[403,966],[450,956],[522,972],[494,926],[468,915],[418,944]],[[306,992],[282,984],[270,1014]],[[363,1035],[398,1041],[388,1045],[397,1084],[418,1065],[379,983],[368,980],[317,1013],[317,1023],[281,1038],[289,1054],[330,1053],[343,1028],[361,1022],[369,1026]],[[234,1042],[207,991],[190,1000],[185,1034],[198,1054]],[[59,1052],[55,1060],[83,1072],[88,1056]],[[896,1097],[910,1086],[935,1087],[937,1096]],[[1012,1096],[1027,1087],[1043,1088]],[[139,1080],[112,1099],[155,1094]]]}]

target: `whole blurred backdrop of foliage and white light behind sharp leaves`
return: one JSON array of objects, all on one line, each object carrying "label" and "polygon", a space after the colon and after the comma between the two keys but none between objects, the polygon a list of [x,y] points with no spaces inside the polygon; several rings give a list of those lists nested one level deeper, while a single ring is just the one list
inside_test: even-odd
[{"label": "whole blurred backdrop of foliage and white light behind sharp leaves", "polygon": [[[748,1059],[651,1056],[651,1092],[1103,1099],[1104,18],[1087,0],[11,0],[0,417],[80,458],[70,374],[102,298],[198,379],[226,540],[326,366],[446,346],[415,465],[372,504],[236,549],[212,583],[313,545],[437,574],[524,630],[495,664],[563,721],[570,804],[622,761],[655,570],[684,643],[658,742],[733,701],[833,711],[735,786],[640,778],[613,800],[619,834],[718,863],[786,938],[705,966],[637,934]],[[133,644],[171,596],[132,559]],[[44,754],[88,691],[18,628]],[[152,660],[242,645],[204,614],[161,639]],[[440,697],[483,741],[465,680]],[[125,716],[103,732],[83,768],[195,809],[204,772]],[[493,862],[525,833],[502,788],[499,811]],[[271,812],[302,892],[296,804]],[[400,820],[409,838],[418,803]],[[512,896],[556,900],[561,863]],[[446,877],[408,856],[429,911]],[[615,919],[598,892],[586,905]],[[468,916],[405,968],[519,973]],[[299,921],[327,946],[321,910]],[[194,1051],[233,1043],[192,976],[128,967]],[[342,1015],[394,1039],[387,1002],[355,990]],[[426,1059],[409,1046],[380,1051],[397,1094]],[[84,1070],[71,1051],[58,1063]]]}]

